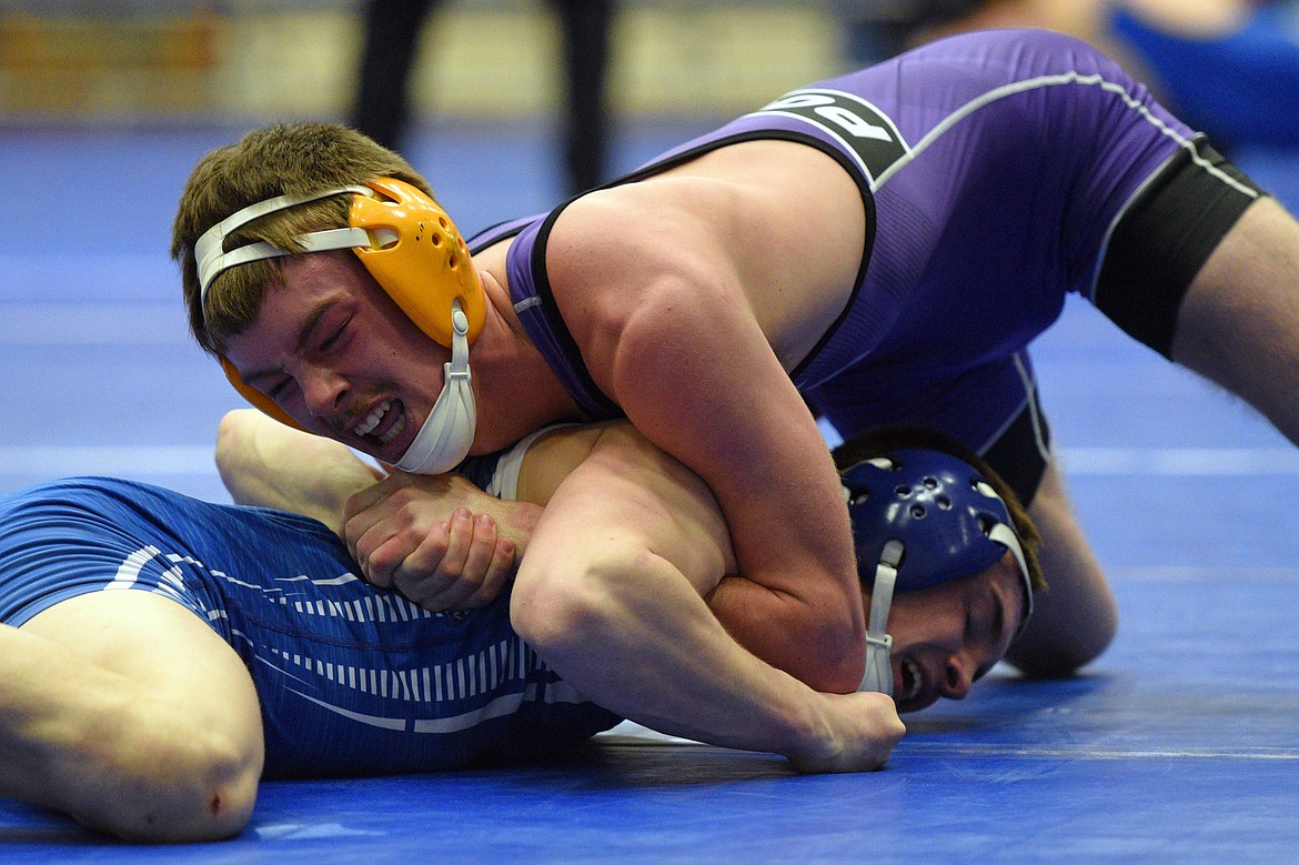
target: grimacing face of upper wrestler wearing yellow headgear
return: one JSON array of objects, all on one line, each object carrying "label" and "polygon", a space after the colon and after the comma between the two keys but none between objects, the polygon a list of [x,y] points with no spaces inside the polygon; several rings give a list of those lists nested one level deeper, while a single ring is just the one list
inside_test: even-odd
[{"label": "grimacing face of upper wrestler wearing yellow headgear", "polygon": [[442,391],[448,349],[351,252],[288,257],[281,273],[226,357],[303,429],[396,462]]}]

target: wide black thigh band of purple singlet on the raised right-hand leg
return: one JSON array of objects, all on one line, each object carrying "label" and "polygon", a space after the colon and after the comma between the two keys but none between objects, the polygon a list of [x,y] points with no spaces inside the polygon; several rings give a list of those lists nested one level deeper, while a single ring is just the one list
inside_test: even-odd
[{"label": "wide black thigh band of purple singlet on the raised right-hand leg", "polygon": [[1246,208],[1263,196],[1203,138],[1194,144],[1202,160],[1259,195],[1251,197],[1179,151],[1120,218],[1094,295],[1111,321],[1169,358],[1191,282]]}]

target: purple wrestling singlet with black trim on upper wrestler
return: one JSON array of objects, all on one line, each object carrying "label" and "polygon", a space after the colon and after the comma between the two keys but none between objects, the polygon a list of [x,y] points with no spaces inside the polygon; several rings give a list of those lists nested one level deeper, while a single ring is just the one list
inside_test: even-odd
[{"label": "purple wrestling singlet with black trim on upper wrestler", "polygon": [[[986,455],[1024,501],[1047,458],[1029,342],[1077,292],[1167,355],[1182,294],[1259,196],[1121,68],[1047,31],[955,36],[812,84],[614,184],[752,139],[829,153],[866,208],[857,286],[791,371],[799,390],[844,436],[883,423],[942,430]],[[614,417],[547,282],[561,212],[470,247],[513,236],[516,312],[581,408]]]}]

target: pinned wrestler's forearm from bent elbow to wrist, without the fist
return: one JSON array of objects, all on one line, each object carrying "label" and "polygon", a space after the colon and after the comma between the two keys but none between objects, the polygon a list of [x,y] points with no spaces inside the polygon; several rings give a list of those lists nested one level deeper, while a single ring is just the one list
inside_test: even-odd
[{"label": "pinned wrestler's forearm from bent elbow to wrist, without the fist", "polygon": [[661,558],[617,551],[562,581],[521,569],[512,618],[588,699],[626,718],[711,744],[798,756],[811,748],[820,695],[730,639]]}]

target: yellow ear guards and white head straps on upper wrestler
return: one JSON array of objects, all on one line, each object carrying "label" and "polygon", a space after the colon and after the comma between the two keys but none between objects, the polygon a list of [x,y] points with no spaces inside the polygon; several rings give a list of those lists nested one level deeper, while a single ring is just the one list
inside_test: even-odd
[{"label": "yellow ear guards and white head straps on upper wrestler", "polygon": [[[199,271],[199,303],[223,270],[251,261],[294,255],[265,242],[226,252],[225,238],[269,213],[351,192],[347,229],[297,235],[305,252],[352,249],[379,287],[429,338],[452,343],[452,301],[459,300],[474,342],[487,316],[487,300],[464,238],[447,213],[417,187],[396,178],[375,178],[368,186],[281,195],[252,204],[208,229],[194,244]],[[235,390],[256,408],[290,426],[299,426],[261,391],[246,384],[225,357],[221,366]]]}]

